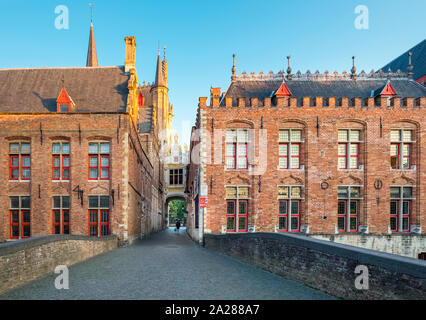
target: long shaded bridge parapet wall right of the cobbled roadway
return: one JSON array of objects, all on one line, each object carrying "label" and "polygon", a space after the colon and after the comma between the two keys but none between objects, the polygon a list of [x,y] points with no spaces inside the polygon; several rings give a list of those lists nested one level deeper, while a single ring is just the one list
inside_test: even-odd
[{"label": "long shaded bridge parapet wall right of the cobbled roadway", "polygon": [[[205,246],[344,299],[426,299],[423,260],[294,234],[207,234]],[[355,287],[358,265],[368,290]]]}]

